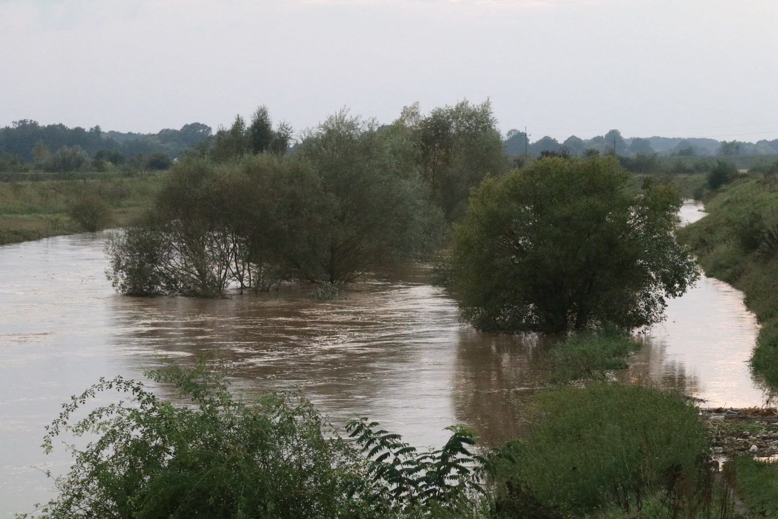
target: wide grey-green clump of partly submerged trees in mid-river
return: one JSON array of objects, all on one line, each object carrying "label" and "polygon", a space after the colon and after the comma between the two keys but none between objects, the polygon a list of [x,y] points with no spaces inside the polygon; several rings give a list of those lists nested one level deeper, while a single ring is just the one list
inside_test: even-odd
[{"label": "wide grey-green clump of partly submerged trees in mid-river", "polygon": [[349,282],[419,258],[440,243],[443,218],[395,137],[344,111],[291,156],[182,160],[145,221],[110,241],[107,274],[129,295],[212,297]]}]

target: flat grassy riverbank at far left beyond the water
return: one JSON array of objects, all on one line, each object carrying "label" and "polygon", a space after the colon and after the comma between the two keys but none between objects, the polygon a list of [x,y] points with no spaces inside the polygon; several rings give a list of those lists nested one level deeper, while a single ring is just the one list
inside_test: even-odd
[{"label": "flat grassy riverbank at far left beyond the water", "polygon": [[73,209],[84,200],[107,207],[106,226],[125,226],[151,205],[161,175],[17,174],[0,178],[0,244],[86,230]]}]

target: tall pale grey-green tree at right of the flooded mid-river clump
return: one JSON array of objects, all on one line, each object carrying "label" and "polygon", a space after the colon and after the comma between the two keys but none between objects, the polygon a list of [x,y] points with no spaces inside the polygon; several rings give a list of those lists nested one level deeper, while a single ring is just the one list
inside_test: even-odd
[{"label": "tall pale grey-green tree at right of the flooded mid-river clump", "polygon": [[405,142],[346,110],[328,117],[300,144],[314,165],[327,205],[303,279],[348,282],[381,265],[412,258],[438,243],[437,212],[424,200]]}]

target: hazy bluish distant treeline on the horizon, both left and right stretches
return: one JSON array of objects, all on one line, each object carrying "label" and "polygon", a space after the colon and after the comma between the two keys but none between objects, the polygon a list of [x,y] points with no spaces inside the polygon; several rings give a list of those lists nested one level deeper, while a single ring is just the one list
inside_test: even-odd
[{"label": "hazy bluish distant treeline on the horizon, both left and right stretches", "polygon": [[[254,114],[256,116],[257,114]],[[266,115],[265,115],[266,117]],[[238,119],[237,126],[219,126],[217,131],[206,124],[194,122],[184,124],[180,129],[165,128],[155,133],[103,132],[99,125],[85,129],[79,126],[68,128],[65,124],[41,125],[37,121],[23,119],[0,128],[0,172],[23,172],[42,170],[106,171],[160,170],[166,169],[177,157],[187,152],[202,155],[240,155],[241,149],[262,146],[267,135],[251,133],[246,121]],[[243,128],[240,128],[243,124]],[[385,124],[380,128],[390,128]],[[238,133],[247,131],[245,138]],[[242,134],[241,134],[242,135]],[[304,136],[293,138],[292,128],[283,124],[278,139],[272,146],[294,148]],[[253,139],[253,140],[252,140]],[[232,146],[233,149],[230,149]],[[615,154],[622,160],[622,166],[636,173],[650,173],[664,170],[692,171],[692,163],[661,163],[661,157],[701,156],[762,156],[778,154],[778,139],[759,142],[717,141],[716,139],[682,139],[680,137],[625,138],[619,130],[592,139],[580,139],[571,135],[562,142],[548,135],[530,142],[527,135],[512,129],[503,137],[504,153],[514,157],[539,156],[592,156]],[[517,159],[515,166],[522,160]],[[680,168],[680,169],[678,169]],[[707,170],[700,163],[697,170]]]}]

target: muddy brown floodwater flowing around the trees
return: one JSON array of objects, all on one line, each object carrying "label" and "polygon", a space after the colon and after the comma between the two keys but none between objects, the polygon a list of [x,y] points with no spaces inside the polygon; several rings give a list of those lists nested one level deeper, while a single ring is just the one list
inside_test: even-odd
[{"label": "muddy brown floodwater flowing around the trees", "polygon": [[[685,205],[682,220],[701,217],[698,209]],[[538,339],[462,326],[423,265],[372,275],[328,303],[310,301],[310,288],[148,300],[111,289],[105,237],[0,247],[0,517],[49,499],[44,471],[67,469],[63,448],[40,449],[61,403],[101,376],[141,377],[159,355],[188,363],[216,350],[242,391],[302,391],[336,426],[370,416],[417,446],[440,446],[453,423],[499,442],[521,427],[538,387]],[[703,278],[667,314],[626,378],[710,405],[765,401],[746,364],[758,328],[741,293]]]}]

